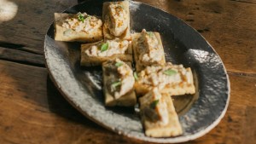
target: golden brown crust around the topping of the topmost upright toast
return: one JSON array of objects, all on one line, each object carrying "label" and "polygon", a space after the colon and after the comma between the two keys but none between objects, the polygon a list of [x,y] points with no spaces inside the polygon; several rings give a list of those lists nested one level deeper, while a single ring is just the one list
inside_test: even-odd
[{"label": "golden brown crust around the topping of the topmost upright toast", "polygon": [[[103,3],[103,9],[102,9],[102,20],[103,20],[103,35],[105,39],[114,39],[116,38],[113,36],[109,30],[106,21],[106,17],[108,15],[108,5],[113,2],[105,2]],[[125,9],[126,13],[128,14],[128,27],[125,30],[125,32],[119,36],[119,39],[125,39],[125,40],[131,40],[131,32],[130,32],[130,9],[129,9],[129,2],[128,1],[122,1],[122,2],[117,2],[122,5],[122,7]]]}]

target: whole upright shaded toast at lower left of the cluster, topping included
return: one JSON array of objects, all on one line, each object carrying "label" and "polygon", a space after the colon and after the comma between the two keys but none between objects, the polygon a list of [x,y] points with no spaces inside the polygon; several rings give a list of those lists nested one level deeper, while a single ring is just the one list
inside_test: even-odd
[{"label": "whole upright shaded toast at lower left of the cluster, topping included", "polygon": [[[108,60],[102,64],[102,70],[105,105],[108,107],[131,107],[136,105],[137,96],[133,89],[134,78],[132,76],[131,63],[125,63],[124,61],[119,59]],[[122,79],[123,76],[120,77],[120,70],[122,72],[125,72],[123,73],[125,74],[125,79]],[[123,89],[122,87],[125,89]],[[123,92],[121,92],[122,89]]]}]

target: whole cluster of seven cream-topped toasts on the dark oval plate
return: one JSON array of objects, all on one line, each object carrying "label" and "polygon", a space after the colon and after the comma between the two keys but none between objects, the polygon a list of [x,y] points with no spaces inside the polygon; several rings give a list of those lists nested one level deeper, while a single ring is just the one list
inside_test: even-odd
[{"label": "whole cluster of seven cream-topped toasts on the dark oval plate", "polygon": [[55,40],[84,42],[81,66],[102,66],[107,107],[132,107],[138,99],[146,135],[181,135],[171,96],[195,93],[192,72],[166,62],[159,32],[130,32],[129,1],[103,3],[102,20],[55,14]]}]

